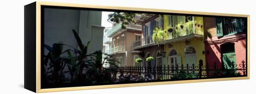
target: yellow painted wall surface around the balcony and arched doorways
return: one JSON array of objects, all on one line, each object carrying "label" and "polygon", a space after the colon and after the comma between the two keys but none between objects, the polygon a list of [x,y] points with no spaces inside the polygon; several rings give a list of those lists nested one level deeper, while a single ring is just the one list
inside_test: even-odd
[{"label": "yellow painted wall surface around the balcony and arched doorways", "polygon": [[[185,23],[185,16],[181,16],[181,15],[175,15],[174,16],[174,26],[176,26],[178,23]],[[203,23],[203,17],[198,17],[195,16],[194,20],[196,20],[197,22],[199,22],[200,24]],[[168,29],[168,15],[163,15],[163,30],[166,31],[167,33],[167,29]],[[202,24],[203,25],[203,24]],[[172,42],[170,43],[172,45],[171,48],[168,47],[168,44],[164,45],[164,51],[166,52],[165,54],[165,58],[164,59],[168,59],[168,55],[170,53],[170,51],[172,49],[175,49],[177,52],[177,56],[181,56],[181,63],[184,65],[185,64],[185,48],[187,47],[194,47],[195,51],[196,51],[196,62],[197,65],[199,64],[199,60],[203,60],[203,65],[205,65],[205,54],[203,54],[202,52],[205,51],[204,49],[204,37],[203,37],[203,27],[201,28],[201,32],[200,34],[202,34],[201,38],[193,38],[191,40],[189,40],[189,45],[185,44],[185,40],[180,40],[178,42]],[[168,60],[165,60],[168,61]],[[163,63],[164,64],[164,63]]]}]

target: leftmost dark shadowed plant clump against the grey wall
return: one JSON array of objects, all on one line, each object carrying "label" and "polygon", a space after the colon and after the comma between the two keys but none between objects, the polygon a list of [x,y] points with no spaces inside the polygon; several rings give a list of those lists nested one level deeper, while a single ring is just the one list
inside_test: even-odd
[{"label": "leftmost dark shadowed plant clump against the grey wall", "polygon": [[52,47],[45,45],[44,47],[49,51],[44,56],[44,77],[45,82],[50,82],[53,85],[68,81],[65,78],[64,68],[67,66],[66,58],[61,57],[61,54],[66,53],[68,50],[62,52],[62,44],[54,43]]}]

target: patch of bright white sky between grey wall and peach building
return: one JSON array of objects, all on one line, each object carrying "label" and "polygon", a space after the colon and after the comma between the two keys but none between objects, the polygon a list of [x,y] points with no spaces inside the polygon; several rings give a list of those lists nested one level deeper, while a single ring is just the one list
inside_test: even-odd
[{"label": "patch of bright white sky between grey wall and peach building", "polygon": [[103,27],[112,27],[112,23],[108,22],[108,14],[114,13],[114,12],[104,12],[102,11],[102,16],[101,16],[101,26]]}]

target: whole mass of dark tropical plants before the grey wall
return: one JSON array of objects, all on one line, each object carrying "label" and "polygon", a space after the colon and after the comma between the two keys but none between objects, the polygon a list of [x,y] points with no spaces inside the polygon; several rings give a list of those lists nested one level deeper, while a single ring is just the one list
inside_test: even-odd
[{"label": "whole mass of dark tropical plants before the grey wall", "polygon": [[[54,43],[52,47],[45,45],[49,52],[44,55],[43,84],[54,87],[63,83],[92,84],[108,81],[108,79],[104,79],[105,75],[101,75],[102,65],[109,63],[112,66],[116,66],[116,61],[111,58],[112,56],[108,56],[104,58],[102,63],[101,50],[88,54],[90,41],[85,45],[81,42],[75,30],[73,30],[73,34],[77,41],[78,49],[60,43]],[[63,46],[68,49],[62,51]]]}]

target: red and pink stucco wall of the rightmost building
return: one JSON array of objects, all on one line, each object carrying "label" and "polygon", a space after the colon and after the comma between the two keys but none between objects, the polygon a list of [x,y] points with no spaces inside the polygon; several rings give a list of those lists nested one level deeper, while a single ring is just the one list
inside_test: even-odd
[{"label": "red and pink stucco wall of the rightmost building", "polygon": [[[205,30],[205,50],[206,62],[209,64],[216,64],[222,66],[222,53],[221,45],[224,43],[234,43],[236,53],[236,64],[246,60],[246,38],[245,32],[238,33],[230,36],[216,37],[216,19],[213,17],[204,17],[204,30]],[[215,42],[215,43],[208,43]],[[239,66],[237,66],[239,67]]]}]

